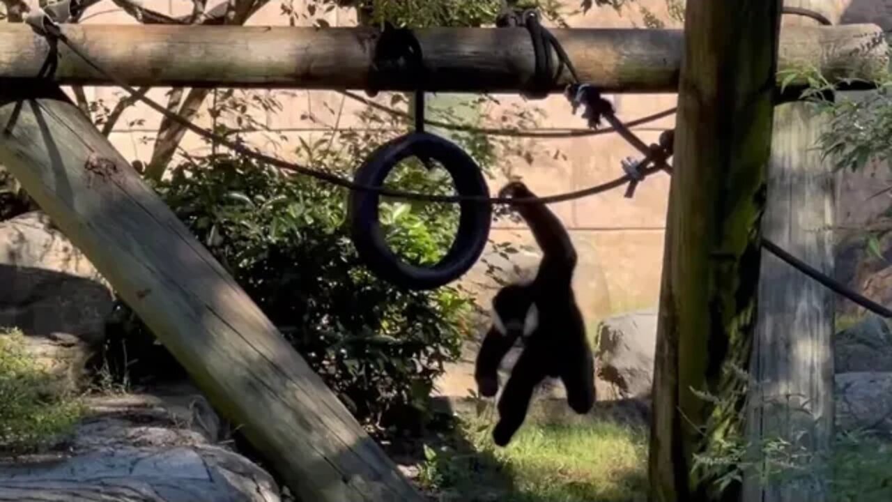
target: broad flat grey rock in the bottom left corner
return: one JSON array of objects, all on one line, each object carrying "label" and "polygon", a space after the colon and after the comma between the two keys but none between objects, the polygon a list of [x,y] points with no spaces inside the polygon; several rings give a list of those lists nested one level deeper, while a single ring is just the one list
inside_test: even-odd
[{"label": "broad flat grey rock in the bottom left corner", "polygon": [[[186,397],[182,390],[165,393]],[[66,451],[0,464],[0,501],[279,501],[267,472],[210,444],[206,432],[177,405],[168,409],[168,402],[140,395],[91,398],[92,416]]]}]

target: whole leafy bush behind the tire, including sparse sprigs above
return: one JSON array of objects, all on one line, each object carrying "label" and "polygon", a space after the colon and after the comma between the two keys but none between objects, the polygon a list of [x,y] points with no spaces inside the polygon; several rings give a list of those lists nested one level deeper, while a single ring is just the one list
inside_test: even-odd
[{"label": "whole leafy bush behind the tire, including sparse sprigs above", "polygon": [[[221,124],[244,123],[238,114],[250,110],[239,104],[252,100],[241,99],[243,92],[219,98],[224,108],[214,114],[214,129],[235,139],[242,133]],[[401,117],[361,115],[376,127],[301,139],[301,162],[350,178],[372,149],[406,130]],[[485,138],[452,139],[484,170],[494,163]],[[471,331],[471,297],[458,287],[409,291],[378,280],[359,262],[345,228],[343,188],[218,150],[211,145],[211,155],[190,156],[154,188],[360,421],[417,425],[443,364],[458,357]],[[453,192],[443,170],[410,161],[387,186]],[[451,244],[458,207],[385,200],[381,222],[394,250],[431,264]]]}]

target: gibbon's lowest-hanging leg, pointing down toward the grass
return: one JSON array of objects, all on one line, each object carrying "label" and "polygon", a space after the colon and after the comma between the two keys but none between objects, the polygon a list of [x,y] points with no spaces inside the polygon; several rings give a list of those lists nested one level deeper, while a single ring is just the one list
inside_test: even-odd
[{"label": "gibbon's lowest-hanging leg, pointing down toward the grass", "polygon": [[499,423],[492,430],[492,440],[500,447],[506,446],[524,423],[533,389],[545,378],[539,356],[536,351],[525,348],[505,384],[499,399]]}]

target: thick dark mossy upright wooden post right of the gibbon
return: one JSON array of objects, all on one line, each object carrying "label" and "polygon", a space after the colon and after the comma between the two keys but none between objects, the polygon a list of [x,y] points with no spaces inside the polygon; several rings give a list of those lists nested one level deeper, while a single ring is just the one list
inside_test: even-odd
[{"label": "thick dark mossy upright wooden post right of the gibbon", "polygon": [[[780,0],[689,0],[657,326],[649,473],[659,502],[735,500],[723,456],[743,433]],[[742,374],[741,374],[742,373]]]}]

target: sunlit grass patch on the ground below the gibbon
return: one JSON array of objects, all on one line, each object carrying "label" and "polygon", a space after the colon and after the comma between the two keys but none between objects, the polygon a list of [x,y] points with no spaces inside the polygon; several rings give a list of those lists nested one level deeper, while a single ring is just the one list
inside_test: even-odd
[{"label": "sunlit grass patch on the ground below the gibbon", "polygon": [[645,431],[615,423],[527,423],[508,448],[491,425],[462,419],[464,448],[426,449],[419,479],[444,500],[638,502],[647,487]]}]

